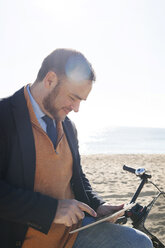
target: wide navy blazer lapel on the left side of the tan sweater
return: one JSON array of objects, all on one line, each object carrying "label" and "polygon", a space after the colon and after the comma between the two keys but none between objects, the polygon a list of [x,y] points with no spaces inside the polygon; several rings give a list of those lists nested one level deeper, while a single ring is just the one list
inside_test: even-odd
[{"label": "wide navy blazer lapel on the left side of the tan sweater", "polygon": [[35,144],[29,112],[24,97],[24,88],[12,96],[12,110],[22,153],[24,182],[27,189],[34,188]]}]

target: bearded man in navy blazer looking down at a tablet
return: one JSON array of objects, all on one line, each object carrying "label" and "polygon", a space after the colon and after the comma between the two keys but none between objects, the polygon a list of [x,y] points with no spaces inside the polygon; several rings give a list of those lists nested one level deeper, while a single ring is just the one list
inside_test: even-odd
[{"label": "bearded man in navy blazer looking down at a tablet", "polygon": [[78,112],[94,80],[81,53],[57,49],[32,85],[0,102],[1,247],[152,247],[142,233],[112,223],[69,234],[123,207],[92,191],[80,165],[76,129],[66,117]]}]

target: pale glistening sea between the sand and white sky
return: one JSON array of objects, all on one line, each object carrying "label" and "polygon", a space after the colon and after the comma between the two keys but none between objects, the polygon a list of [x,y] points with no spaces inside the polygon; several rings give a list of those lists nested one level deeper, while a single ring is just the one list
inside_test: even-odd
[{"label": "pale glistening sea between the sand and white sky", "polygon": [[106,127],[80,135],[81,154],[163,154],[165,128]]}]

